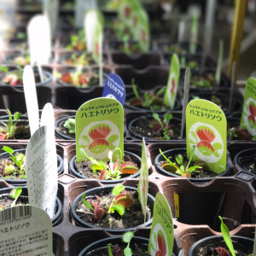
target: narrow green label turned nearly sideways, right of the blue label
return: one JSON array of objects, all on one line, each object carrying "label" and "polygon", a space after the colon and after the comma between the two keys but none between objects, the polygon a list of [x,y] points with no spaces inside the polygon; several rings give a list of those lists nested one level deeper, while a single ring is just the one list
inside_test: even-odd
[{"label": "narrow green label turned nearly sideways, right of the blue label", "polygon": [[166,87],[166,93],[164,96],[164,102],[166,106],[174,108],[176,96],[177,96],[177,86],[179,81],[179,61],[176,54],[172,55],[171,67],[169,78]]}]

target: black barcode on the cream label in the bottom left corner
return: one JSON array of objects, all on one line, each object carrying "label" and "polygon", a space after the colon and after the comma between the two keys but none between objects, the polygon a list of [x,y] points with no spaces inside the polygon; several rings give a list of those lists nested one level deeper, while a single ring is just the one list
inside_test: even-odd
[{"label": "black barcode on the cream label in the bottom left corner", "polygon": [[0,212],[0,222],[32,216],[31,206],[9,207]]}]

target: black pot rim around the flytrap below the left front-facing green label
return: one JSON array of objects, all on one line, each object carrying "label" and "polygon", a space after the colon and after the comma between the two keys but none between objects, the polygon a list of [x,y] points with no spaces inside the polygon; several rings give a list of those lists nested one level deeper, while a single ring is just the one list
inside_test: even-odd
[{"label": "black pot rim around the flytrap below the left front-facing green label", "polygon": [[[127,151],[124,151],[124,154],[125,155],[129,155],[131,157],[131,160],[134,161],[137,166],[140,168],[141,167],[141,162],[142,162],[142,159],[140,157],[138,157],[136,154],[133,154],[131,152],[127,152]],[[75,177],[80,177],[80,178],[89,178],[89,177],[86,177],[82,174],[79,173],[79,171],[77,170],[77,168],[75,167],[75,162],[76,162],[76,155],[73,156],[73,158],[70,160],[69,162],[69,172],[72,173]],[[138,172],[136,172],[135,174],[129,176],[130,177],[139,177],[140,175],[140,170]],[[120,178],[120,179],[110,179],[110,180],[102,180],[102,179],[99,179],[99,181],[102,183],[102,184],[116,184],[116,183],[122,183],[126,178],[128,177],[123,177],[123,178]]]}]

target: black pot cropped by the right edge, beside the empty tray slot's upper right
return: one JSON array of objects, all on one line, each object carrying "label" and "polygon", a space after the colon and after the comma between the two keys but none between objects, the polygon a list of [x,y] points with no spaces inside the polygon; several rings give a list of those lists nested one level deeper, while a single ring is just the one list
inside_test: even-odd
[{"label": "black pot cropped by the right edge, beside the empty tray slot's upper right", "polygon": [[250,148],[250,149],[242,150],[240,153],[236,154],[234,158],[234,164],[239,166],[242,170],[246,172],[251,172],[254,175],[256,175],[255,159],[256,159],[256,149]]}]

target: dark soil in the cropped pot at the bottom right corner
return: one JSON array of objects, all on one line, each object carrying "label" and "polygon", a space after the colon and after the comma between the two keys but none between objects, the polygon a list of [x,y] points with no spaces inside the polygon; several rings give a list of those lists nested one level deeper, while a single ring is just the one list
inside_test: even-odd
[{"label": "dark soil in the cropped pot at the bottom right corner", "polygon": [[[237,241],[233,241],[234,249],[236,250],[236,256],[247,256],[250,253],[253,253],[252,247],[245,247],[238,243]],[[199,252],[197,253],[197,256],[218,256],[217,251],[215,248],[222,247],[224,248],[228,253],[230,253],[228,247],[226,246],[225,242],[218,242],[215,244],[208,245],[207,247],[201,247],[199,248]],[[230,253],[231,255],[231,253]]]}]

